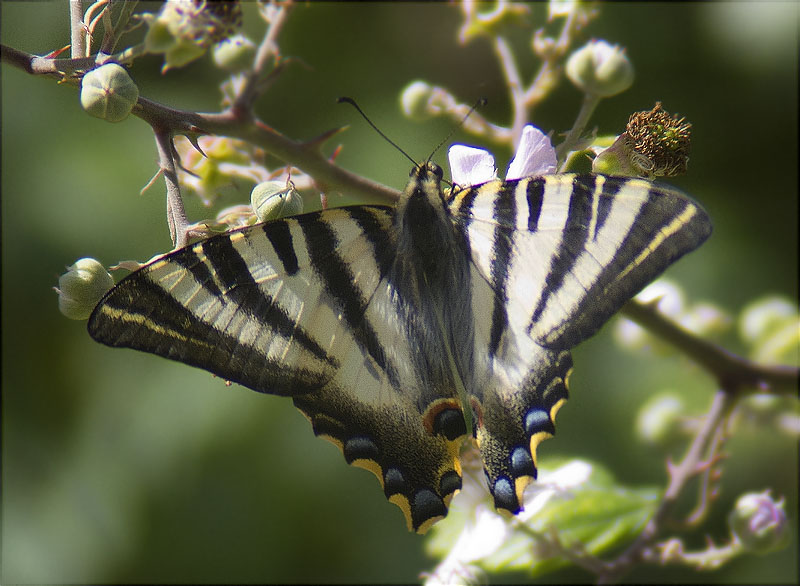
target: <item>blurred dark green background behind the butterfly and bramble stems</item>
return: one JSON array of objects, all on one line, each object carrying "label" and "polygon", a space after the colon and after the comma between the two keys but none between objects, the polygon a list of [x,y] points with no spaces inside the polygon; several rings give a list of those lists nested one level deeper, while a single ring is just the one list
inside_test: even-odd
[{"label": "blurred dark green background behind the butterfly and bramble stems", "polygon": [[[35,54],[69,43],[67,4],[3,2],[2,42]],[[535,59],[530,27],[514,37],[526,81]],[[688,175],[674,181],[707,208],[711,240],[669,274],[693,300],[738,312],[765,294],[797,298],[797,23],[788,2],[602,4],[584,40],[627,48],[634,87],[592,120],[618,133],[655,101],[694,125]],[[258,39],[253,5],[246,29]],[[335,126],[345,168],[401,189],[408,162],[354,112],[355,96],[381,129],[416,158],[451,123],[414,123],[401,89],[424,79],[462,101],[485,96],[485,114],[509,119],[504,81],[489,44],[456,42],[459,10],[447,4],[298,4],[280,37],[287,68],[258,109],[287,135]],[[222,73],[203,59],[159,74],[132,70],[143,96],[214,111]],[[563,83],[536,112],[545,132],[568,129],[581,96]],[[456,135],[454,141],[474,139]],[[330,151],[328,151],[330,152]],[[510,153],[497,153],[500,166]],[[444,153],[439,153],[444,162]],[[52,287],[82,256],[105,264],[145,260],[169,248],[163,183],[139,195],[156,170],[149,128],[135,118],[90,118],[74,87],[2,68],[3,583],[414,582],[434,561],[406,532],[365,471],[316,439],[285,399],[226,387],[207,373],[133,351],[111,350],[85,324],[63,318]],[[193,219],[209,214],[191,209]],[[548,455],[603,462],[631,485],[665,483],[664,456],[634,437],[637,408],[664,388],[693,413],[714,391],[677,356],[617,348],[607,327],[575,353],[571,400]],[[743,348],[734,335],[723,343]],[[722,493],[709,532],[746,490],[787,499],[792,543],[737,559],[709,582],[796,583],[797,443],[770,428],[745,429],[727,445]],[[688,539],[702,547],[703,535]],[[513,578],[513,577],[512,577]],[[523,579],[523,577],[516,577]],[[510,579],[500,577],[503,581]],[[694,582],[688,570],[645,567],[631,582]],[[591,580],[570,570],[544,582]]]}]

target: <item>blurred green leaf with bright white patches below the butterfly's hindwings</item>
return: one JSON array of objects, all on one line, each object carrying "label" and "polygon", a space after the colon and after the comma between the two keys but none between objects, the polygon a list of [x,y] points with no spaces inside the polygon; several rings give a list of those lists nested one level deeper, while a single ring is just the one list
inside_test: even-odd
[{"label": "blurred green leaf with bright white patches below the butterfly's hindwings", "polygon": [[[541,576],[572,563],[563,550],[553,547],[552,528],[563,547],[599,556],[631,542],[654,513],[658,489],[620,486],[596,463],[560,464],[542,466],[542,481],[531,490],[526,510],[516,519],[490,513],[486,503],[467,510],[454,499],[448,522],[435,526],[428,543],[429,552],[446,558],[434,576],[444,566],[452,572],[458,563],[491,573],[524,571]],[[566,476],[578,466],[582,472]]]}]

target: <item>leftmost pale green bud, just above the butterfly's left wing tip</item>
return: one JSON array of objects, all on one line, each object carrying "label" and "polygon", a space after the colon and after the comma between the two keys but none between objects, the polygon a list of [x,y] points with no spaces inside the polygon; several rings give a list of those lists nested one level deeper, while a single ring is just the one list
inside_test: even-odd
[{"label": "leftmost pale green bud, just above the butterfly's left wing tip", "polygon": [[93,258],[82,258],[58,278],[58,309],[69,319],[87,319],[114,279]]}]

